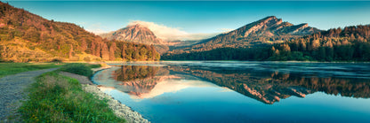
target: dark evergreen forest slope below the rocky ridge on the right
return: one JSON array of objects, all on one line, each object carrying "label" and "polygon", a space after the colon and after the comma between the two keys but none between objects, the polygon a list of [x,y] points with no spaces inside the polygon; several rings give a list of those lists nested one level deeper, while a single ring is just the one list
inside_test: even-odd
[{"label": "dark evergreen forest slope below the rocky ridge on the right", "polygon": [[167,53],[162,59],[369,61],[370,25],[334,28],[281,43],[250,48]]}]

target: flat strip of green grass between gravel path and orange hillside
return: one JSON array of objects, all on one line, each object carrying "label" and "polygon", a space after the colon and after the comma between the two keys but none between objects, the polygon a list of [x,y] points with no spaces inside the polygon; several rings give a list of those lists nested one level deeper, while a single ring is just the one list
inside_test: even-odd
[{"label": "flat strip of green grass between gravel path and orange hillside", "polygon": [[0,63],[0,78],[5,75],[58,67],[54,63]]}]

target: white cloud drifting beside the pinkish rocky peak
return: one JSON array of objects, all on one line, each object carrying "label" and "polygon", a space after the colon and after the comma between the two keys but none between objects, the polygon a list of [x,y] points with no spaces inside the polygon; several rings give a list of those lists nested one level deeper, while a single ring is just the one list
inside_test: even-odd
[{"label": "white cloud drifting beside the pinkish rocky peak", "polygon": [[133,26],[139,24],[143,27],[148,27],[154,35],[164,41],[175,41],[175,40],[201,40],[205,38],[213,37],[218,34],[190,34],[188,32],[182,31],[180,28],[166,27],[164,25],[156,24],[154,22],[146,22],[135,20],[131,21],[128,26]]}]

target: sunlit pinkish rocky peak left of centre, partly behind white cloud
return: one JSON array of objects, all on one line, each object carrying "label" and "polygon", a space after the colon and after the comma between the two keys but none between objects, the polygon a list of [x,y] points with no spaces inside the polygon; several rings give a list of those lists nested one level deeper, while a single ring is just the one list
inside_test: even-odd
[{"label": "sunlit pinkish rocky peak left of centre, partly behind white cloud", "polygon": [[162,40],[157,38],[148,27],[141,26],[140,24],[130,25],[108,34],[102,34],[101,37],[126,42],[162,44]]}]

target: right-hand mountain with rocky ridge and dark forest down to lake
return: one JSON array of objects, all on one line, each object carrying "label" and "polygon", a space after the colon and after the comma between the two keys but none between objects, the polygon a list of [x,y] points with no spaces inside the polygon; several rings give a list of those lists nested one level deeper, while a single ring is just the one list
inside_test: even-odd
[{"label": "right-hand mountain with rocky ridge and dark forest down to lake", "polygon": [[173,48],[161,59],[369,61],[370,25],[322,31],[270,16],[227,34]]}]

